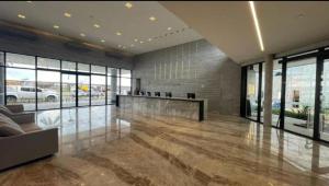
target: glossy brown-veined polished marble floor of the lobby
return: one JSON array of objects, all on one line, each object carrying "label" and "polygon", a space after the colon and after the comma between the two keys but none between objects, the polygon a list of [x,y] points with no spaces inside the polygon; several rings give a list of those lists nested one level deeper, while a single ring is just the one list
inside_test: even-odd
[{"label": "glossy brown-veined polished marble floor of the lobby", "polygon": [[234,116],[203,123],[114,106],[37,113],[59,152],[0,173],[0,185],[329,185],[329,147]]}]

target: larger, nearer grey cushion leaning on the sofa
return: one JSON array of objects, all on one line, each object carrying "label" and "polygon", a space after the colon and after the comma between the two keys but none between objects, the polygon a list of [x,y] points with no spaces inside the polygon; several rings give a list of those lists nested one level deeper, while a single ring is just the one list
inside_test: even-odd
[{"label": "larger, nearer grey cushion leaning on the sofa", "polygon": [[24,131],[11,118],[0,113],[0,137],[22,135]]}]

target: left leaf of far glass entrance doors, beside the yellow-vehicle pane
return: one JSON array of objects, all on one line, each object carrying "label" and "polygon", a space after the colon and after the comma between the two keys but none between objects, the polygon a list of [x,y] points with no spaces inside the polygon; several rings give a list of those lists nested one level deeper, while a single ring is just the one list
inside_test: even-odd
[{"label": "left leaf of far glass entrance doors, beside the yellow-vehicle pane", "polygon": [[61,73],[61,107],[76,106],[77,75]]}]

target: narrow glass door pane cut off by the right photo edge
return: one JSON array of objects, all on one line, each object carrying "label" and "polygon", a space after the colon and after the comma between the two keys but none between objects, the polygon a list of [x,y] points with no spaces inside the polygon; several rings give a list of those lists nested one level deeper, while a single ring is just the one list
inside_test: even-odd
[{"label": "narrow glass door pane cut off by the right photo edge", "polygon": [[325,59],[320,97],[320,138],[329,141],[329,59]]}]

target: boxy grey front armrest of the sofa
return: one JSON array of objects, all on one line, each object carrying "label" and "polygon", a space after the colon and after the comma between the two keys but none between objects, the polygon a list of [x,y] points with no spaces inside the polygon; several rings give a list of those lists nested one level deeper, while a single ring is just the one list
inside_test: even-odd
[{"label": "boxy grey front armrest of the sofa", "polygon": [[0,171],[58,152],[58,129],[0,138]]}]

